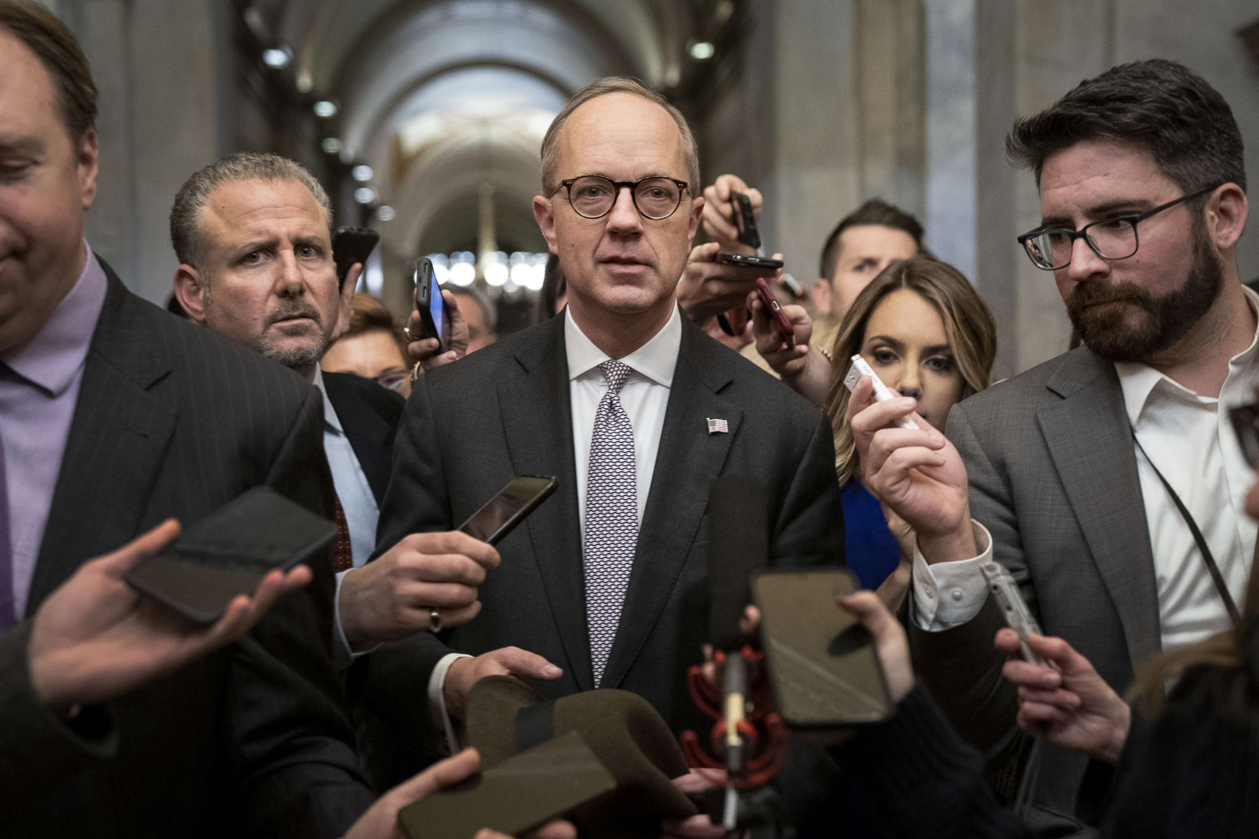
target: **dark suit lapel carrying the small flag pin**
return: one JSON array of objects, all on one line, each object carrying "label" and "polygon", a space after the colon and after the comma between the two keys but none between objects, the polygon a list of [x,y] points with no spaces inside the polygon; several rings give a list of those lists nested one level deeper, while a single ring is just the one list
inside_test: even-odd
[{"label": "dark suit lapel carrying the small flag pin", "polygon": [[[743,419],[743,410],[721,396],[731,379],[728,353],[684,316],[681,351],[630,589],[602,687],[614,688],[626,677],[669,601],[692,543],[706,538],[697,531],[709,492]],[[709,434],[710,418],[726,420],[729,433]]]}]

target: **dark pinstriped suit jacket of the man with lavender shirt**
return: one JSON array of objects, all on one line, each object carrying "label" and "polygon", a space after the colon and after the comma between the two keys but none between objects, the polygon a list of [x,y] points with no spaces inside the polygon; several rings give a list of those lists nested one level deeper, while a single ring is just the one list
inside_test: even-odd
[{"label": "dark pinstriped suit jacket of the man with lavender shirt", "polygon": [[0,833],[342,835],[373,796],[330,660],[330,556],[243,640],[112,702],[116,741],[76,738],[25,683],[29,618],[86,560],[258,484],[332,511],[319,394],[106,272],[28,621],[0,640],[21,664],[0,670]]}]

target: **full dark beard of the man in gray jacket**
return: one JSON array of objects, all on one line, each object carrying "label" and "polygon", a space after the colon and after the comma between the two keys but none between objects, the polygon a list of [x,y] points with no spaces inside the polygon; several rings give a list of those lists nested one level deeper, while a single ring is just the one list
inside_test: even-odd
[{"label": "full dark beard of the man in gray jacket", "polygon": [[[1201,220],[1194,225],[1194,264],[1176,291],[1155,297],[1134,283],[1083,282],[1066,299],[1080,340],[1105,361],[1148,361],[1183,338],[1215,303],[1224,265]],[[1098,303],[1118,306],[1095,308]],[[1133,308],[1139,309],[1133,318]]]}]

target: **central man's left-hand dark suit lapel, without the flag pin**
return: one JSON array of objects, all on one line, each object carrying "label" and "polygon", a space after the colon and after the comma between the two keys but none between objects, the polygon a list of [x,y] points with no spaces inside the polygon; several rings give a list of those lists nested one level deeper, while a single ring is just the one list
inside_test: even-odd
[{"label": "central man's left-hand dark suit lapel, without the flag pin", "polygon": [[539,340],[516,351],[519,370],[499,382],[499,405],[515,474],[554,474],[555,494],[525,520],[569,672],[583,691],[594,688],[585,625],[582,533],[577,508],[573,411],[564,318],[539,328]]}]

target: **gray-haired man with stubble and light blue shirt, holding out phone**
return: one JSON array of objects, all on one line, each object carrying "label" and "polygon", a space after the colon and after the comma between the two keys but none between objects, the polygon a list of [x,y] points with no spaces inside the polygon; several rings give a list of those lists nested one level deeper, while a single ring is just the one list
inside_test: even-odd
[{"label": "gray-haired man with stubble and light blue shirt, holding out phone", "polygon": [[258,350],[324,395],[324,452],[336,488],[334,650],[345,667],[381,643],[476,615],[476,585],[497,564],[458,533],[400,537],[380,561],[376,516],[389,483],[403,400],[375,382],[320,370],[349,325],[361,265],[339,282],[331,205],[319,181],[277,155],[237,153],[195,172],[170,214],[180,265],[175,294],[189,317]]}]

